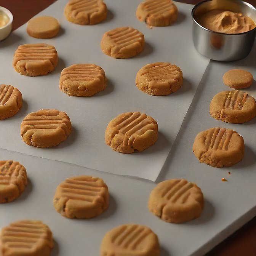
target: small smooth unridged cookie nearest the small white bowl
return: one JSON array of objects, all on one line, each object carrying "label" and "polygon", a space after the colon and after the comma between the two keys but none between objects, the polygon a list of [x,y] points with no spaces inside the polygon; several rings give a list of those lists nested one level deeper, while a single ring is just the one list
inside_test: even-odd
[{"label": "small smooth unridged cookie nearest the small white bowl", "polygon": [[52,16],[39,16],[27,22],[27,34],[35,38],[51,38],[59,32],[59,22]]}]

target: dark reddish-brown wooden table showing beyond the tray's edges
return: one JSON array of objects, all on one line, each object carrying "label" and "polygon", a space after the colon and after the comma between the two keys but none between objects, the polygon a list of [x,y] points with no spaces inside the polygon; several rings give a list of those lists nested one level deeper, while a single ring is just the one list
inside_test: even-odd
[{"label": "dark reddish-brown wooden table showing beyond the tray's edges", "polygon": [[[0,0],[0,6],[13,13],[13,30],[15,30],[53,2],[55,0]],[[196,4],[200,1],[179,0],[178,2]],[[256,7],[256,0],[246,0],[246,2]],[[256,256],[256,217],[207,253],[206,256]]]}]

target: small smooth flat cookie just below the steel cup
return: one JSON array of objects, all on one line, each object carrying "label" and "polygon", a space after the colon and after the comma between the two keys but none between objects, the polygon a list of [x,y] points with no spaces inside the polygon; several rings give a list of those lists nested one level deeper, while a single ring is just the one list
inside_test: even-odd
[{"label": "small smooth flat cookie just below the steel cup", "polygon": [[231,69],[222,77],[223,83],[234,89],[243,89],[253,83],[253,75],[243,69]]}]

